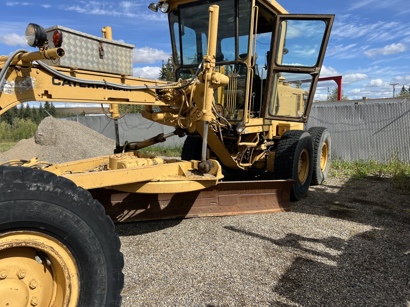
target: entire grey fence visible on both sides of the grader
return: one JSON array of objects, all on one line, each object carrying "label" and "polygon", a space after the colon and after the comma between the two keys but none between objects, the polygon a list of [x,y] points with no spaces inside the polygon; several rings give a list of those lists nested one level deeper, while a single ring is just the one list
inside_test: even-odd
[{"label": "entire grey fence visible on both sides of the grader", "polygon": [[[105,116],[71,117],[107,138],[115,139],[113,120]],[[386,162],[394,154],[410,163],[410,102],[313,106],[307,128],[324,126],[330,130],[333,158]],[[151,138],[174,129],[141,117],[125,115],[118,120],[120,141]],[[174,136],[157,146],[182,145],[185,138]]]}]

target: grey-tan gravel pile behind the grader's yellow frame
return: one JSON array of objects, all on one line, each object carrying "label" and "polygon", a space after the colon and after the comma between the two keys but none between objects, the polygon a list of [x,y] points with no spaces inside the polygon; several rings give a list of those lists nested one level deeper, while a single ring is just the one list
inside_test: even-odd
[{"label": "grey-tan gravel pile behind the grader's yellow frame", "polygon": [[0,153],[0,162],[38,157],[42,161],[62,163],[111,154],[114,148],[114,140],[80,123],[46,117],[34,137]]}]

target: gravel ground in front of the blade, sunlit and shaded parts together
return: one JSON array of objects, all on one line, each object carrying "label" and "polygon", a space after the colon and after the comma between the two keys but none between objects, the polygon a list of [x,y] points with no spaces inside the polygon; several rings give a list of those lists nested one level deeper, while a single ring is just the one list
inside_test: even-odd
[{"label": "gravel ground in front of the blade, sunlit and shaded parts together", "polygon": [[410,306],[410,202],[329,178],[292,212],[116,224],[123,306]]}]

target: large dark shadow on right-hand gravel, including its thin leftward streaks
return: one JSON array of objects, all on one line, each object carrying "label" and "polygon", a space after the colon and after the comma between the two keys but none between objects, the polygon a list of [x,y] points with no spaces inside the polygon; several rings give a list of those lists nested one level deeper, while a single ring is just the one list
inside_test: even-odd
[{"label": "large dark shadow on right-hand gravel, including its thin leftward streaks", "polygon": [[[410,210],[408,196],[390,190],[389,183],[367,179],[348,181],[338,192],[315,189],[293,212],[317,214],[374,226],[373,230],[344,240],[314,239],[288,234],[271,239],[241,233],[294,248],[335,262],[326,264],[298,256],[272,289],[301,306],[397,306],[410,302]],[[380,194],[380,190],[386,193]],[[384,195],[384,196],[383,196]],[[301,203],[302,202],[302,203]],[[310,250],[301,242],[315,242],[338,255]],[[271,306],[287,306],[271,302]]]}]

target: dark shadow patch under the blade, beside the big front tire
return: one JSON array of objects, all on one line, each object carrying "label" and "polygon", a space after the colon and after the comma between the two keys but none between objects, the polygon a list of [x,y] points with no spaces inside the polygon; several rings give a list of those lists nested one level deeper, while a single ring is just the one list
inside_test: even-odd
[{"label": "dark shadow patch under the blade, beside the big front tire", "polygon": [[115,223],[115,232],[118,233],[120,237],[144,235],[146,233],[155,233],[156,231],[177,226],[179,223],[181,223],[181,221],[182,219],[166,219]]}]

